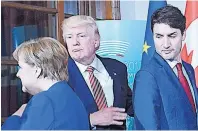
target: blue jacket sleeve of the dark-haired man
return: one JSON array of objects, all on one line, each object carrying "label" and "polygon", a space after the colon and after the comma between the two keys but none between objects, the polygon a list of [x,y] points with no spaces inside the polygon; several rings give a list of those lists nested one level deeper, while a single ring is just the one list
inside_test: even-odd
[{"label": "blue jacket sleeve of the dark-haired man", "polygon": [[155,78],[139,71],[134,81],[134,120],[136,130],[160,129],[160,94]]}]

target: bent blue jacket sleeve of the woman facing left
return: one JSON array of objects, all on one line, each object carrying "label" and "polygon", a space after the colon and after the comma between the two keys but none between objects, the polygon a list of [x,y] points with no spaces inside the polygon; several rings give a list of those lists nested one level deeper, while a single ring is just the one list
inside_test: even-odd
[{"label": "bent blue jacket sleeve of the woman facing left", "polygon": [[[11,116],[4,130],[45,130],[50,129],[54,120],[53,108],[48,97],[38,94],[27,104],[21,117]],[[14,125],[14,126],[13,126]]]}]

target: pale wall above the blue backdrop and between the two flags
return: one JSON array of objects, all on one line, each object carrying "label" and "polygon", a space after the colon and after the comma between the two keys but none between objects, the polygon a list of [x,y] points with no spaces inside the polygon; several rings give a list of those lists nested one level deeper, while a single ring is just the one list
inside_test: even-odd
[{"label": "pale wall above the blue backdrop and between the two flags", "polygon": [[[178,7],[185,12],[186,0],[166,0],[167,4]],[[122,20],[146,20],[149,0],[120,0]]]}]

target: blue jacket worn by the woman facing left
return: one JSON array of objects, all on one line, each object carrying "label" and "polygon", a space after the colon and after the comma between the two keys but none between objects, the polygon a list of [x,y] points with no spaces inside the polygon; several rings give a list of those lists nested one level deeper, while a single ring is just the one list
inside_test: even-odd
[{"label": "blue jacket worn by the woman facing left", "polygon": [[28,102],[21,117],[9,117],[2,130],[88,130],[87,112],[65,81],[40,92]]}]

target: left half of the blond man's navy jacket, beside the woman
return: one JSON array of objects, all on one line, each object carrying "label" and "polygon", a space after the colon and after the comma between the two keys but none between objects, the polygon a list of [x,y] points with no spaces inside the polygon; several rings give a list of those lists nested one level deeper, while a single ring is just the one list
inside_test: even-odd
[{"label": "left half of the blond man's navy jacket, beside the woman", "polygon": [[84,80],[80,70],[78,69],[75,62],[69,58],[68,60],[68,71],[69,71],[69,85],[74,89],[78,97],[83,102],[88,113],[93,113],[98,110],[96,102],[89,90],[86,81]]}]

